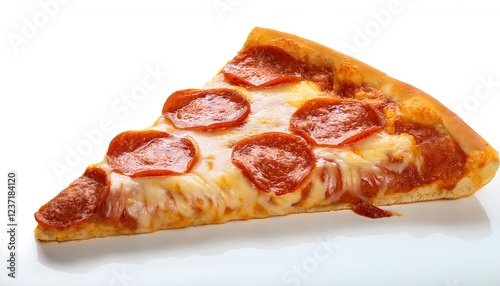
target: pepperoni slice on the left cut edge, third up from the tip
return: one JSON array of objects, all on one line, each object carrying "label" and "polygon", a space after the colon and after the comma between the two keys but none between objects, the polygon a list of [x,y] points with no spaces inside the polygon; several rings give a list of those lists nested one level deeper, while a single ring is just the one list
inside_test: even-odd
[{"label": "pepperoni slice on the left cut edge, third up from the tip", "polygon": [[210,131],[240,125],[250,103],[235,89],[185,89],[168,97],[162,113],[179,129]]}]

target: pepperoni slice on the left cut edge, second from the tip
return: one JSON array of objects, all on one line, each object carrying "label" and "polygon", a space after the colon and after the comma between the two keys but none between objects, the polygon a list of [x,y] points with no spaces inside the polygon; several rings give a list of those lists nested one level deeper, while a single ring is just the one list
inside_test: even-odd
[{"label": "pepperoni slice on the left cut edge, second from the tip", "polygon": [[191,170],[196,147],[187,138],[162,131],[126,131],[109,144],[108,164],[131,177],[165,176]]}]

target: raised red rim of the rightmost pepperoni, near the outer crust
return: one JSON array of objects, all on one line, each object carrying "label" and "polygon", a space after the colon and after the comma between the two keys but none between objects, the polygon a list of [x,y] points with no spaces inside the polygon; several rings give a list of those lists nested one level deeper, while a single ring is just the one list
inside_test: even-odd
[{"label": "raised red rim of the rightmost pepperoni, near the outer crust", "polygon": [[[312,104],[317,104],[318,102],[319,103],[326,102],[328,104],[337,104],[337,103],[343,103],[343,102],[355,102],[355,103],[359,103],[359,104],[363,105],[365,108],[367,108],[369,111],[373,112],[373,114],[377,117],[377,123],[374,126],[368,128],[366,130],[363,130],[363,131],[361,131],[361,132],[359,132],[359,133],[357,133],[355,135],[352,135],[349,138],[346,138],[343,141],[338,142],[336,144],[332,144],[332,143],[320,143],[315,138],[313,138],[307,131],[302,130],[298,126],[298,119],[297,119],[297,117],[299,117],[301,115],[301,113],[303,113],[306,109],[308,109]],[[385,124],[384,123],[384,118],[380,114],[380,112],[377,111],[375,108],[373,108],[373,106],[371,106],[367,102],[360,101],[360,100],[357,100],[357,99],[350,99],[350,98],[343,99],[343,98],[325,97],[325,98],[315,98],[315,99],[308,100],[302,106],[300,106],[295,111],[295,113],[292,114],[292,116],[290,118],[290,126],[289,126],[289,128],[294,133],[296,133],[296,134],[302,136],[303,138],[305,138],[311,144],[314,144],[314,145],[317,145],[317,146],[323,146],[323,147],[342,147],[342,146],[345,146],[345,145],[348,145],[348,144],[352,144],[352,143],[358,142],[359,140],[364,139],[364,138],[368,137],[369,135],[382,130],[383,127],[384,127],[384,124]]]}]

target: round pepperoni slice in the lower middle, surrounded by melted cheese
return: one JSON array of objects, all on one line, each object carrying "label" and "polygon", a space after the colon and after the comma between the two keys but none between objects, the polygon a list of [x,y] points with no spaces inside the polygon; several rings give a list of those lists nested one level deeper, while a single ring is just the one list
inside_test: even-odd
[{"label": "round pepperoni slice in the lower middle, surrounded by melted cheese", "polygon": [[279,132],[237,142],[231,160],[258,189],[277,195],[297,189],[315,166],[314,155],[304,139]]}]

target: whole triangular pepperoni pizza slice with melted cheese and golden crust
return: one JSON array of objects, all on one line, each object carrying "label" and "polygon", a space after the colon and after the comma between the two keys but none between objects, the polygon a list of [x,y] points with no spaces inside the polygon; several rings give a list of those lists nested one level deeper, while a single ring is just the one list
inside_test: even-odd
[{"label": "whole triangular pepperoni pizza slice with melted cheese and golden crust", "polygon": [[[161,110],[160,110],[161,109]],[[160,112],[161,111],[161,112]],[[201,89],[125,131],[36,213],[67,241],[469,196],[498,153],[426,93],[332,49],[255,28]]]}]

